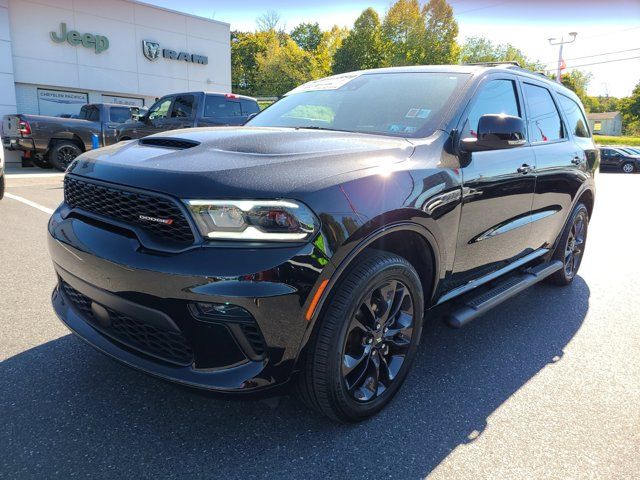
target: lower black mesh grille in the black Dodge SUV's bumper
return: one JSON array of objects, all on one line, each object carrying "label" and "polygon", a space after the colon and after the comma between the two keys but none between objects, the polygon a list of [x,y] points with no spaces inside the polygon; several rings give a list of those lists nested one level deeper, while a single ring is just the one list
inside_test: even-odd
[{"label": "lower black mesh grille in the black Dodge SUV's bumper", "polygon": [[109,325],[98,323],[91,310],[91,299],[80,293],[68,283],[61,281],[62,290],[67,299],[78,309],[84,318],[97,330],[114,340],[171,363],[189,365],[193,362],[193,351],[180,332],[162,330],[111,308]]}]

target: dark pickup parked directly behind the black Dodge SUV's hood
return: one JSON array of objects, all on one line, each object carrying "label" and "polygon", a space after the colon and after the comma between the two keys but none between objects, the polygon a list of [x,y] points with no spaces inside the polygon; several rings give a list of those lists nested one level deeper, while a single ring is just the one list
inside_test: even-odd
[{"label": "dark pickup parked directly behind the black Dodge SUV's hood", "polygon": [[118,129],[118,140],[190,127],[242,125],[260,111],[255,98],[233,93],[188,92],[167,95],[154,103],[137,122]]}]

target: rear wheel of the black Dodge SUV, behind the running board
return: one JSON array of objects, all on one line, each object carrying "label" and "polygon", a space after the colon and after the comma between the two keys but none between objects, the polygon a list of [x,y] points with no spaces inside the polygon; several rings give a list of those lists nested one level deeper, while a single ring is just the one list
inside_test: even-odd
[{"label": "rear wheel of the black Dodge SUV, behind the running board", "polygon": [[562,269],[547,278],[549,283],[569,285],[573,281],[582,263],[588,229],[589,211],[584,204],[579,203],[574,208],[553,254],[553,260],[562,262]]}]

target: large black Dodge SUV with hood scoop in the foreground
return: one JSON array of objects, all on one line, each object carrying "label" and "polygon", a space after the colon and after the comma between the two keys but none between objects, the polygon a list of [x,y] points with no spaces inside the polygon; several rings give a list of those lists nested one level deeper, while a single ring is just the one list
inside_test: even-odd
[{"label": "large black Dodge SUV with hood scoop in the foreground", "polygon": [[144,372],[293,386],[357,421],[397,392],[432,307],[450,302],[460,327],[542,279],[571,283],[597,163],[578,98],[520,68],[330,77],[241,128],[76,159],[49,223],[53,305]]}]

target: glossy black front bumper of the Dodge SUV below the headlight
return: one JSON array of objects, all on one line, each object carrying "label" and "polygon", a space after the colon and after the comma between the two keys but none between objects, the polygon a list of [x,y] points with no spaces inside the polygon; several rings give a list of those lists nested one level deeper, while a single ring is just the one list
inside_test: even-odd
[{"label": "glossy black front bumper of the Dodge SUV below the headlight", "polygon": [[[333,271],[313,244],[152,252],[135,235],[60,209],[49,223],[62,322],[151,375],[222,393],[279,391],[295,372],[314,285]],[[197,304],[250,314],[198,318]]]}]

